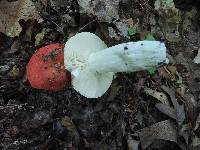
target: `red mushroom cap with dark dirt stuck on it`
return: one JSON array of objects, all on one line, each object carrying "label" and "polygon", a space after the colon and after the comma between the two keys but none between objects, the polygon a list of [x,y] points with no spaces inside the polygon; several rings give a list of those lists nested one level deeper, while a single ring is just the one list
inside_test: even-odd
[{"label": "red mushroom cap with dark dirt stuck on it", "polygon": [[27,65],[32,87],[58,91],[68,84],[64,67],[64,45],[55,43],[38,49]]}]

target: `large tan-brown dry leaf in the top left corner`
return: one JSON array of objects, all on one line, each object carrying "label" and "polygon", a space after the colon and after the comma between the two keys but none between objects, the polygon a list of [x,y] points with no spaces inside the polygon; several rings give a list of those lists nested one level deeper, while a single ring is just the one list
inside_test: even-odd
[{"label": "large tan-brown dry leaf in the top left corner", "polygon": [[22,30],[19,20],[41,20],[39,12],[31,0],[0,1],[0,16],[0,32],[11,37],[18,36]]}]

